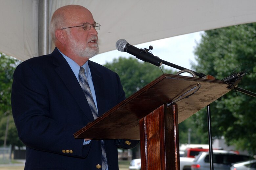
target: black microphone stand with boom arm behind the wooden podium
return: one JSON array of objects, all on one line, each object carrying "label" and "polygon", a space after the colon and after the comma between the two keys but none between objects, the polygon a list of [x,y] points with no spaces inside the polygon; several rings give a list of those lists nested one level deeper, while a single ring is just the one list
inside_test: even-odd
[{"label": "black microphone stand with boom arm behind the wooden podium", "polygon": [[[165,64],[167,66],[170,66],[170,67],[173,67],[175,69],[178,69],[178,70],[187,70],[186,68],[184,67],[181,67],[181,66],[178,66],[176,64],[173,64],[173,63],[170,63],[170,62],[167,62],[167,61],[164,61],[162,60],[162,64]],[[189,69],[188,69],[189,70]],[[194,72],[194,71],[192,71]],[[199,76],[200,78],[206,76],[205,74],[203,73],[197,73],[197,72],[194,72],[197,76]],[[235,87],[234,89],[236,89],[237,91],[239,92],[242,92],[242,93],[245,93],[249,96],[253,96],[253,97],[256,97],[256,94],[253,93],[253,92],[250,92],[250,91],[247,91],[245,89],[242,89],[242,88],[239,88],[239,87]],[[207,125],[208,125],[208,140],[209,140],[209,159],[210,159],[210,170],[214,170],[214,167],[213,167],[213,148],[212,148],[212,129],[211,129],[211,111],[210,111],[210,104],[207,105]]]}]

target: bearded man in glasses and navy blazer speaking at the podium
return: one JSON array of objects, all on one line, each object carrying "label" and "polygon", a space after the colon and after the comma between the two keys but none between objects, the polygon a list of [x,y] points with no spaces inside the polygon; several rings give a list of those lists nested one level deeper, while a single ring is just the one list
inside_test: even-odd
[{"label": "bearded man in glasses and navy blazer speaking at the podium", "polygon": [[[78,82],[78,68],[84,67],[92,81],[99,116],[125,99],[118,75],[88,60],[98,53],[96,30],[99,24],[86,8],[61,7],[50,24],[53,53],[16,68],[11,104],[19,138],[26,145],[25,169],[102,169],[100,140],[73,137],[94,120]],[[107,169],[118,170],[115,141],[104,140],[104,145]]]}]

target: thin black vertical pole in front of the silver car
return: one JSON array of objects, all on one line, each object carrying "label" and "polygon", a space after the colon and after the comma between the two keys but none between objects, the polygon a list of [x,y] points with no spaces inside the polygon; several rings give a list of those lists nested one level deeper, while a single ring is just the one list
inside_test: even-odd
[{"label": "thin black vertical pole in front of the silver car", "polygon": [[211,110],[210,105],[207,106],[207,123],[208,123],[208,138],[209,138],[209,159],[210,170],[213,170],[213,153],[212,153],[212,128],[211,128]]}]

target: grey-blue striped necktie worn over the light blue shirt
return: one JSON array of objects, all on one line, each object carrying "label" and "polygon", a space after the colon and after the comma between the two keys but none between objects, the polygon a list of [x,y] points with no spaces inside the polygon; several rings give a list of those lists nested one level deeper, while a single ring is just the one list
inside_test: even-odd
[{"label": "grey-blue striped necktie worn over the light blue shirt", "polygon": [[[80,67],[79,74],[78,74],[79,84],[80,84],[80,86],[84,92],[84,95],[89,103],[89,106],[93,113],[93,117],[94,117],[94,119],[96,119],[98,117],[98,111],[97,111],[95,102],[93,100],[93,95],[90,90],[90,86],[88,84],[88,80],[86,78],[84,71],[85,71],[84,68]],[[102,170],[105,170],[108,167],[108,163],[107,163],[106,151],[105,151],[103,140],[101,140],[101,151],[102,151]]]}]

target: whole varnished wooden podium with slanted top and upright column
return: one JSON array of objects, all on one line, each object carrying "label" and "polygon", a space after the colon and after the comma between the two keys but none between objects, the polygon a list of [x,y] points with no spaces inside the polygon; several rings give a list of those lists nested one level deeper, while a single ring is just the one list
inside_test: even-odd
[{"label": "whole varnished wooden podium with slanted top and upright column", "polygon": [[229,92],[227,86],[220,80],[163,74],[74,137],[140,139],[142,170],[179,170],[178,123]]}]

